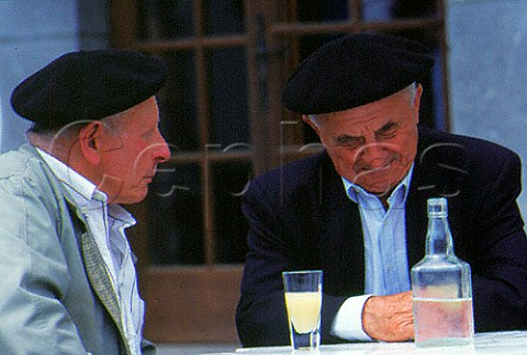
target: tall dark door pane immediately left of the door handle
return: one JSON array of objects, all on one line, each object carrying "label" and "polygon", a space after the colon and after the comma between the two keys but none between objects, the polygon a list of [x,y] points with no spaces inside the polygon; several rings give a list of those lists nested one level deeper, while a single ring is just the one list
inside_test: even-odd
[{"label": "tall dark door pane immediately left of the door handle", "polygon": [[249,142],[246,59],[243,48],[214,49],[208,55],[210,144],[228,147]]}]

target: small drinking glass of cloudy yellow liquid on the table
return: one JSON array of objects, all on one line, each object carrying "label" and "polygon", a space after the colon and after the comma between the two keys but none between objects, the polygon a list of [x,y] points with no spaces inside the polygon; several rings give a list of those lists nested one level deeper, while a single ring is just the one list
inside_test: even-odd
[{"label": "small drinking glass of cloudy yellow liquid on the table", "polygon": [[322,271],[283,272],[283,291],[293,350],[318,350]]}]

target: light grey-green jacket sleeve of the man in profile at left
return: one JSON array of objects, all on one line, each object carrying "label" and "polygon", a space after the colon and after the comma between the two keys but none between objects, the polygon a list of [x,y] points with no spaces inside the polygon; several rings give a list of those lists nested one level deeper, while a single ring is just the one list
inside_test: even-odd
[{"label": "light grey-green jacket sleeve of the man in profile at left", "polygon": [[60,302],[70,276],[46,206],[56,202],[23,174],[0,178],[0,202],[1,352],[85,354]]}]

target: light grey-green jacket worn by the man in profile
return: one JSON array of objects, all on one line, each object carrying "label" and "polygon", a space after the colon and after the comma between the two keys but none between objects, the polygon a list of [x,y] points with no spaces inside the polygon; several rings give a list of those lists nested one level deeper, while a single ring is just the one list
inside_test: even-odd
[{"label": "light grey-green jacket worn by the man in profile", "polygon": [[[72,199],[30,145],[0,156],[0,352],[128,354],[117,299]],[[156,350],[147,341],[144,354]]]}]

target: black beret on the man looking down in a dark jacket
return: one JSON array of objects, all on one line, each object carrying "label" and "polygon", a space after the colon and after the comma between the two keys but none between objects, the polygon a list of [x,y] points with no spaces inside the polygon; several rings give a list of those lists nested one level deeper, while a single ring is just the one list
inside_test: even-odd
[{"label": "black beret on the man looking down in a dark jacket", "polygon": [[386,98],[425,77],[434,58],[402,37],[356,34],[334,39],[302,61],[282,94],[301,114],[344,111]]}]

